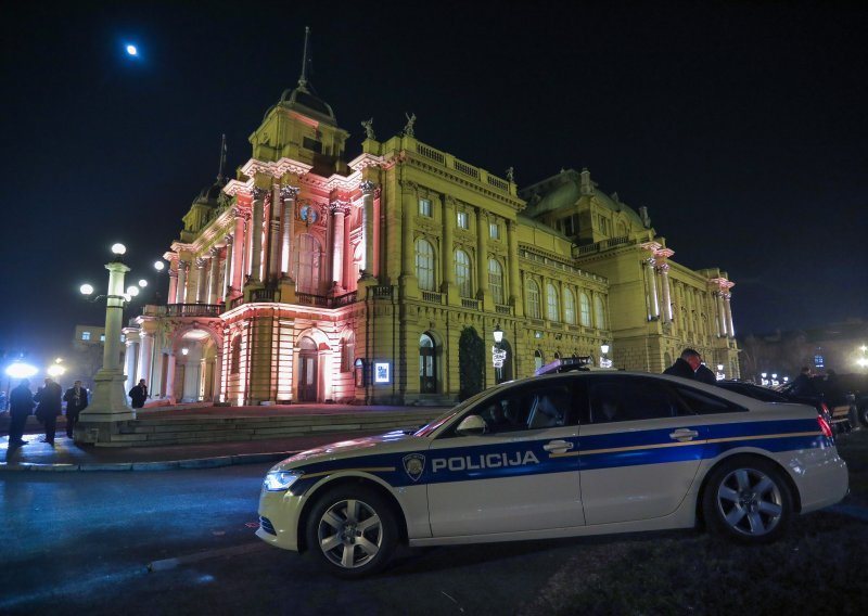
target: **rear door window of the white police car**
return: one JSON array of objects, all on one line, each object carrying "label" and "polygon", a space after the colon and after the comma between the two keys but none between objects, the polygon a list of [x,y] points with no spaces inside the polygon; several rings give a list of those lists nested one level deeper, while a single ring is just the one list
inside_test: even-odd
[{"label": "rear door window of the white police car", "polygon": [[588,384],[591,423],[671,418],[677,410],[664,384],[644,378],[600,378]]}]

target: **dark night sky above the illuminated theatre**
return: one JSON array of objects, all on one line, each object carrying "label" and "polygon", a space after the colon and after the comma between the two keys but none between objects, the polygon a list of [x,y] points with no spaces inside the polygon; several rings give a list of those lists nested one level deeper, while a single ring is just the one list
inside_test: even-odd
[{"label": "dark night sky above the illuminated theatre", "polygon": [[[520,188],[587,167],[690,268],[736,283],[736,331],[868,320],[868,3],[68,2],[7,7],[0,350],[102,324],[298,79],[361,150],[416,137]],[[308,7],[303,7],[308,4]],[[139,47],[131,59],[127,43]],[[153,290],[153,287],[151,287]],[[131,312],[127,312],[127,317]]]}]

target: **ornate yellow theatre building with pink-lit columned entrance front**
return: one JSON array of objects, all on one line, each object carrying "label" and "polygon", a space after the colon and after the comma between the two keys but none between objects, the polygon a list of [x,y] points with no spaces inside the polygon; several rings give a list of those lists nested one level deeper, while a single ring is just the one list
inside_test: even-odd
[{"label": "ornate yellow theatre building with pink-lit columned entrance front", "polygon": [[448,403],[473,367],[483,387],[559,357],[661,372],[685,346],[739,375],[725,271],[674,261],[646,210],[587,170],[520,189],[414,121],[385,141],[363,123],[347,159],[331,106],[304,76],[286,90],[237,178],[183,217],[166,304],[124,330],[128,385],[178,402]]}]

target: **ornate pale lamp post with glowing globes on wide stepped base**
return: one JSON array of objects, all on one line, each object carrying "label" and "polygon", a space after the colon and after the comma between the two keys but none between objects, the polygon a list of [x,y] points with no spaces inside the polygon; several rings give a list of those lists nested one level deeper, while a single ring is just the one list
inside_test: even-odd
[{"label": "ornate pale lamp post with glowing globes on wide stepped base", "polygon": [[[126,375],[120,368],[120,329],[124,320],[124,301],[129,300],[132,295],[138,294],[138,287],[130,286],[124,293],[124,274],[129,268],[124,265],[124,253],[127,248],[124,244],[112,246],[115,258],[105,264],[108,270],[108,293],[105,297],[105,347],[102,354],[102,368],[93,377],[93,396],[87,409],[81,411],[80,423],[76,426],[75,440],[79,440],[79,434],[87,431],[89,423],[106,424],[108,422],[122,422],[136,419],[136,412],[127,403],[127,393],[124,385]],[[89,295],[93,293],[93,287],[89,284],[81,285],[81,293]],[[99,296],[94,299],[100,299]],[[79,429],[80,426],[80,429]],[[89,442],[95,442],[102,432],[97,426],[97,435],[89,437]]]}]

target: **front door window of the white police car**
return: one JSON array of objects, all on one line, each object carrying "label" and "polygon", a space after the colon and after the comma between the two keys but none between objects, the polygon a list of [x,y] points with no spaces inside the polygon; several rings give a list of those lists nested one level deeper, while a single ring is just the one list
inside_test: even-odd
[{"label": "front door window of the white police car", "polygon": [[512,388],[480,408],[488,433],[558,427],[575,423],[570,383]]}]

